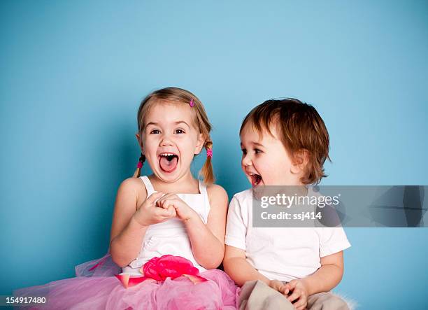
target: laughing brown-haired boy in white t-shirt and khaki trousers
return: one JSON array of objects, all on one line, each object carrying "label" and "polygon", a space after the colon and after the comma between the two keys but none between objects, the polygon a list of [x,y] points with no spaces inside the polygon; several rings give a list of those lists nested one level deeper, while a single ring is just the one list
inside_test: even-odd
[{"label": "laughing brown-haired boy in white t-shirt and khaki trousers", "polygon": [[[241,167],[252,184],[309,185],[325,176],[329,134],[297,99],[256,106],[240,130]],[[227,216],[224,271],[243,286],[240,309],[348,309],[329,293],[343,275],[341,227],[252,227],[252,189],[234,195]]]}]

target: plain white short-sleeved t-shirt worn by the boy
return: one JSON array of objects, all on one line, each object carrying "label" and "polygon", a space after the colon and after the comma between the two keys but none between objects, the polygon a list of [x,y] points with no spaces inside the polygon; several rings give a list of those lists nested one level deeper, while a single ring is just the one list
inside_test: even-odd
[{"label": "plain white short-sleeved t-shirt worn by the boy", "polygon": [[342,227],[252,227],[252,189],[231,199],[227,214],[228,246],[268,279],[291,281],[313,274],[320,258],[350,247]]}]

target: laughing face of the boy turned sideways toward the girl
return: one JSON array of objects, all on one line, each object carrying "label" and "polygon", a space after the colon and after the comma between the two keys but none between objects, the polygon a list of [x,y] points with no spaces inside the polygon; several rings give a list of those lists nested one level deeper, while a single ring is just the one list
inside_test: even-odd
[{"label": "laughing face of the boy turned sideways toward the girl", "polygon": [[302,185],[301,167],[290,159],[285,146],[278,138],[276,128],[271,134],[261,134],[251,123],[241,132],[241,168],[253,187],[258,185]]}]

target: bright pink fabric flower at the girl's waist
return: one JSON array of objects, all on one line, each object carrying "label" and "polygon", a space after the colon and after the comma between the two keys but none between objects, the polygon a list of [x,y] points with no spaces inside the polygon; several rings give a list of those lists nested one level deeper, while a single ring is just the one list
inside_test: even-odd
[{"label": "bright pink fabric flower at the girl's waist", "polygon": [[197,276],[199,269],[194,267],[190,260],[181,256],[163,255],[146,262],[140,272],[147,278],[164,281],[166,278],[173,280],[184,274]]}]

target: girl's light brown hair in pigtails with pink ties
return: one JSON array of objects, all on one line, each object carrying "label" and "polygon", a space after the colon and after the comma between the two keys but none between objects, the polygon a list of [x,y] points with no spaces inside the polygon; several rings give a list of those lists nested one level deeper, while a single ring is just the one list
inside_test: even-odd
[{"label": "girl's light brown hair in pigtails with pink ties", "polygon": [[[183,90],[178,87],[166,87],[162,88],[162,90],[156,90],[148,94],[147,97],[141,101],[140,108],[138,108],[137,114],[137,124],[138,124],[138,133],[140,134],[144,130],[145,123],[145,115],[153,104],[158,101],[173,101],[177,104],[190,104],[190,101],[193,100],[192,107],[192,119],[194,121],[194,125],[199,132],[201,132],[202,136],[204,136],[205,142],[204,147],[206,150],[211,150],[213,148],[213,141],[211,141],[210,132],[211,132],[211,124],[208,120],[208,116],[206,115],[206,111],[202,102],[196,97],[192,92],[188,90]],[[141,144],[141,141],[139,141]],[[145,161],[145,156],[141,155],[140,162]],[[140,176],[141,169],[137,168],[134,177],[138,178]],[[211,157],[207,156],[204,166],[201,171],[199,171],[199,175],[203,176],[204,183],[211,184],[214,182],[214,173],[213,173],[213,164],[211,163]]]}]

